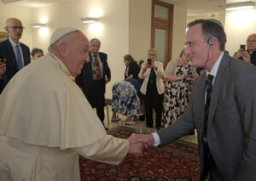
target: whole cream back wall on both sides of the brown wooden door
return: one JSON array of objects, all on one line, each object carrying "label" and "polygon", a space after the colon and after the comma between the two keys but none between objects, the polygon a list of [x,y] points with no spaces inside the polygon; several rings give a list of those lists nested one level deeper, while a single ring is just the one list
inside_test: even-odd
[{"label": "whole cream back wall on both sides of the brown wooden door", "polygon": [[[136,60],[146,59],[151,38],[151,6],[149,0],[81,0],[61,3],[44,8],[25,8],[18,5],[3,4],[0,1],[0,29],[11,16],[18,17],[25,26],[21,42],[31,49],[42,48],[47,52],[49,38],[58,27],[73,26],[91,39],[102,41],[100,51],[108,54],[108,65],[112,80],[107,84],[106,98],[112,99],[114,82],[124,79],[125,64],[123,56],[131,54]],[[97,24],[85,25],[80,18],[90,17],[95,9],[100,11]],[[41,29],[32,28],[32,23],[46,23]],[[92,26],[98,25],[95,31]],[[173,21],[172,58],[176,58],[184,47],[186,9],[175,5]],[[99,29],[102,32],[97,33]]]}]

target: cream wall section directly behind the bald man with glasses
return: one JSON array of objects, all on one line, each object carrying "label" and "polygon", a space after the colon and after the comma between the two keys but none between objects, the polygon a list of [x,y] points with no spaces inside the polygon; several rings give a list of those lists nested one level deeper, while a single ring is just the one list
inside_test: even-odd
[{"label": "cream wall section directly behind the bald man with glasses", "polygon": [[17,18],[25,27],[20,42],[25,43],[32,49],[32,11],[31,8],[25,8],[13,4],[4,4],[0,1],[0,31],[4,31],[5,21],[9,18]]}]

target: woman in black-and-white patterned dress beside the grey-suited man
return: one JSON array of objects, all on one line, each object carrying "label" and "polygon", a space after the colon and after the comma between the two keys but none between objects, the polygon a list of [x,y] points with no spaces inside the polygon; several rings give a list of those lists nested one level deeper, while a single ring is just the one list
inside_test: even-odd
[{"label": "woman in black-and-white patterned dress beside the grey-suited man", "polygon": [[195,76],[195,67],[192,67],[184,54],[184,49],[178,59],[168,63],[165,72],[165,99],[161,127],[168,127],[183,115],[183,111],[189,105]]}]

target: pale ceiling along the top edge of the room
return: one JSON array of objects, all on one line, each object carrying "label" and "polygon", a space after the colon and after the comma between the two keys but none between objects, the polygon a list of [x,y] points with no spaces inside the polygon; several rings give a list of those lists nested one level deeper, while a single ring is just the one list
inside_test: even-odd
[{"label": "pale ceiling along the top edge of the room", "polygon": [[[56,3],[76,2],[80,0],[2,0],[3,3],[14,3],[29,8],[41,8]],[[224,13],[225,3],[237,3],[249,0],[160,0],[174,5],[184,5],[188,16]]]}]

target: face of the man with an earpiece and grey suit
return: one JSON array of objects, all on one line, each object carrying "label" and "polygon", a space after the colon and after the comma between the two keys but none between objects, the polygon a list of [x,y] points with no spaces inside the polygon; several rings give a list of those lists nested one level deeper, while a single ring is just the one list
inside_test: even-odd
[{"label": "face of the man with an earpiece and grey suit", "polygon": [[186,38],[184,54],[193,66],[205,67],[210,47],[201,35],[201,24],[191,26]]}]

